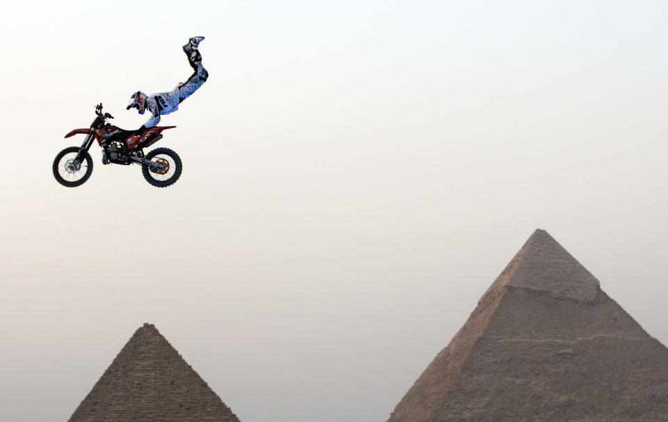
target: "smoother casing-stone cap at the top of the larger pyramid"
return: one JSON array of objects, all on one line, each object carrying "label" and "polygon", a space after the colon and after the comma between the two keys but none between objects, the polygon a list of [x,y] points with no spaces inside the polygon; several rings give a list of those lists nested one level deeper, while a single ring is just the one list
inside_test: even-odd
[{"label": "smoother casing-stone cap at the top of the larger pyramid", "polygon": [[495,285],[549,292],[552,297],[578,302],[591,302],[600,290],[596,277],[540,228],[529,237],[505,273],[503,282]]}]

